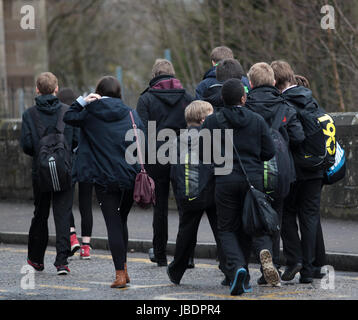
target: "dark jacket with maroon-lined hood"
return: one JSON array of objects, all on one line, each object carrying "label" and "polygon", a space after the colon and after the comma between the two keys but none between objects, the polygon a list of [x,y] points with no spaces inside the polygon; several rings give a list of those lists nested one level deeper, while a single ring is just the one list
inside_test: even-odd
[{"label": "dark jacket with maroon-lined hood", "polygon": [[[146,132],[148,122],[155,121],[156,135],[162,129],[172,129],[178,136],[180,129],[186,128],[185,109],[192,101],[193,97],[187,93],[178,79],[169,75],[161,75],[153,78],[149,87],[139,97],[137,112]],[[148,136],[151,142],[156,140],[155,138]],[[156,150],[163,143],[156,142]],[[152,176],[156,176],[156,173],[164,174],[163,166],[160,164],[146,167]],[[165,172],[169,178],[169,164],[166,166]]]}]

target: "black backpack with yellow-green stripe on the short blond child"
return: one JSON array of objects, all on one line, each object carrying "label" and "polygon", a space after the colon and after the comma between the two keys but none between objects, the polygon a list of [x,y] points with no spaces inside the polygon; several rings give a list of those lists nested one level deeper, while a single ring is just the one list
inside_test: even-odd
[{"label": "black backpack with yellow-green stripe on the short blond child", "polygon": [[[214,167],[203,163],[194,148],[199,141],[192,141],[186,132],[177,139],[177,161],[171,165],[171,181],[179,208],[204,210],[214,203]],[[183,152],[185,148],[181,146],[185,141],[189,142],[187,152]],[[197,150],[200,152],[199,148]]]}]

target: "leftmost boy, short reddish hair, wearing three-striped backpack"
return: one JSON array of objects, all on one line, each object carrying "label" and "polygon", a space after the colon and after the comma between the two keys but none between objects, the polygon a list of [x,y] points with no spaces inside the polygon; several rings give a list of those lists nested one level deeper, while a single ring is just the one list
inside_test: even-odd
[{"label": "leftmost boy, short reddish hair, wearing three-striped backpack", "polygon": [[[36,171],[36,162],[39,151],[39,123],[32,113],[38,113],[39,120],[50,132],[56,127],[59,116],[63,117],[63,109],[68,106],[60,103],[57,78],[50,72],[41,74],[36,82],[36,105],[25,111],[22,117],[21,146],[24,152],[33,157],[32,184],[35,198],[34,218],[31,222],[28,241],[28,264],[37,271],[44,270],[44,256],[48,242],[47,220],[50,214],[51,200],[56,227],[56,261],[57,274],[64,275],[70,272],[67,258],[70,254],[70,215],[72,211],[72,190],[69,188],[60,192],[42,192],[39,174]],[[36,109],[36,110],[33,110]],[[64,136],[71,150],[78,144],[78,132],[71,126],[65,126]]]}]

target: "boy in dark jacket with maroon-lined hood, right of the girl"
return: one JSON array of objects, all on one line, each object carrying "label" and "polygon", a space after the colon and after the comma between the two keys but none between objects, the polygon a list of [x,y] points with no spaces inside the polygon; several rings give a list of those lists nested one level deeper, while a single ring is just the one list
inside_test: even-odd
[{"label": "boy in dark jacket with maroon-lined hood, right of the girl", "polygon": [[[152,70],[149,87],[138,100],[137,112],[146,132],[149,122],[155,122],[156,132],[150,132],[148,139],[157,141],[162,129],[172,129],[177,135],[186,128],[185,108],[193,98],[175,78],[175,70],[168,60],[158,59]],[[156,150],[163,144],[156,144]],[[148,164],[146,169],[155,182],[156,204],[153,206],[153,249],[149,251],[152,262],[158,266],[167,266],[166,247],[168,242],[168,198],[170,187],[170,164]]]}]

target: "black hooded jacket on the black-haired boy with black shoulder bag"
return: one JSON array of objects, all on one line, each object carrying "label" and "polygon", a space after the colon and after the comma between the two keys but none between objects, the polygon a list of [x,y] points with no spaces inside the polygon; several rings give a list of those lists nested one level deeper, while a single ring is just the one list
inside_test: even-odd
[{"label": "black hooded jacket on the black-haired boy with black shoulder bag", "polygon": [[[268,161],[275,155],[275,147],[265,120],[244,107],[225,107],[220,112],[224,116],[226,124],[219,123],[217,115],[213,114],[205,120],[202,128],[209,129],[212,137],[214,129],[234,129],[233,143],[240,153],[248,176],[251,180],[262,180],[263,161]],[[231,144],[229,140],[226,143]],[[218,151],[225,156],[224,130],[221,130],[221,143],[214,143],[213,148],[219,148]],[[215,162],[214,166],[222,167]],[[216,176],[216,183],[235,181],[245,181],[245,176],[240,169],[238,157],[233,151],[233,172],[229,175]]]}]

